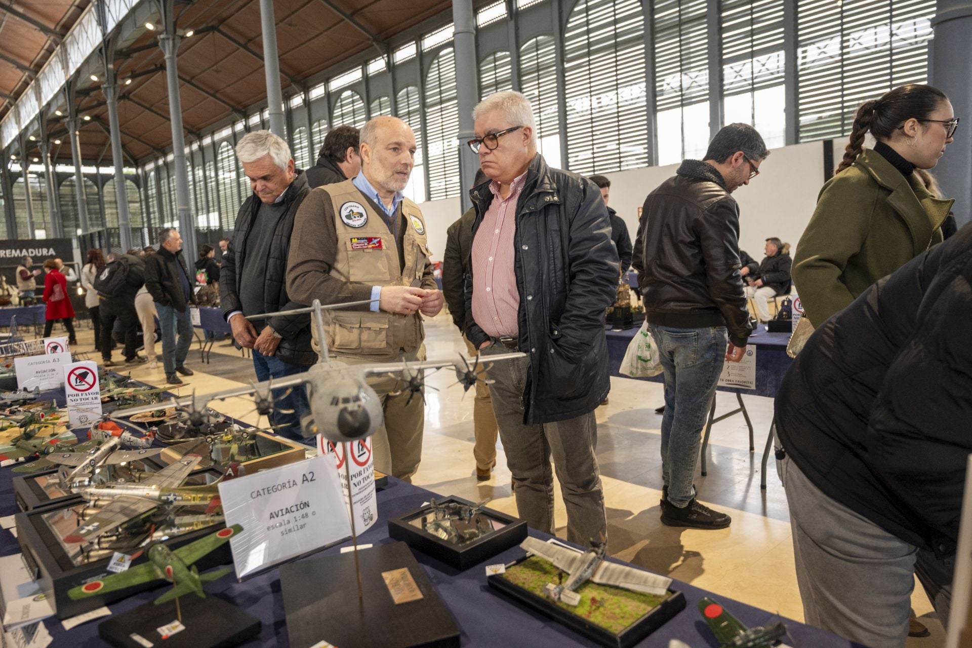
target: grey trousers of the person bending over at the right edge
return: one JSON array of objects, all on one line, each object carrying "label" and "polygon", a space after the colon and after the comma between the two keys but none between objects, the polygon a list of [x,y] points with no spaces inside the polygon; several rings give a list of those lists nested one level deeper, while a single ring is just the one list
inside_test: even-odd
[{"label": "grey trousers of the person bending over at the right edge", "polygon": [[782,468],[807,623],[866,646],[903,647],[918,549],[825,495],[789,457]]}]

